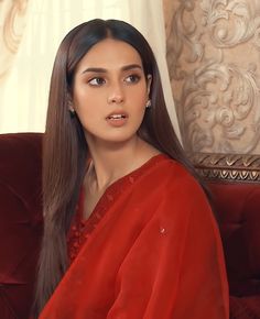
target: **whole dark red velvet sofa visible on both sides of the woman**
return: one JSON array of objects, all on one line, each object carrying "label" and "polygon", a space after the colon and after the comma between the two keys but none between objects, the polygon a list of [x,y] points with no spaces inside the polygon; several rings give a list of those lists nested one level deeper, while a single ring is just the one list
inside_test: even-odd
[{"label": "whole dark red velvet sofa visible on both sides of the woman", "polygon": [[[41,133],[0,134],[0,319],[29,319],[43,231],[41,153]],[[192,160],[219,217],[230,318],[260,319],[260,156]]]}]

